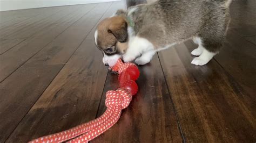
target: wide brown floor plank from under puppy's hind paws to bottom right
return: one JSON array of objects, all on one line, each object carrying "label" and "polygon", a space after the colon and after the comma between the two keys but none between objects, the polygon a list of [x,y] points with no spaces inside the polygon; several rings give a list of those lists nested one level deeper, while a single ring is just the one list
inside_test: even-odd
[{"label": "wide brown floor plank from under puppy's hind paws to bottom right", "polygon": [[215,60],[191,65],[196,47],[190,40],[159,52],[186,141],[255,141],[255,96],[245,94]]}]

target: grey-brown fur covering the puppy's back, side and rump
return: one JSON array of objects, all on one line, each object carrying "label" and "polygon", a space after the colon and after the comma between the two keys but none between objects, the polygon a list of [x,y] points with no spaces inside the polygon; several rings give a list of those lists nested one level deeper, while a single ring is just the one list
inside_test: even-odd
[{"label": "grey-brown fur covering the puppy's back, side and rump", "polygon": [[[208,51],[218,52],[230,21],[227,1],[160,0],[133,6],[126,16],[132,8],[137,8],[129,15],[134,32],[156,48],[200,37]],[[118,14],[124,13],[119,11]]]}]

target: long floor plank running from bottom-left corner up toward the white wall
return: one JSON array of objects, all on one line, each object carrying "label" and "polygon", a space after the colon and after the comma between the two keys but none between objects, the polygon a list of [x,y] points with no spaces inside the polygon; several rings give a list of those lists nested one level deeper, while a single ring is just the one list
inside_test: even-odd
[{"label": "long floor plank running from bottom-left corner up toward the white wall", "polygon": [[85,16],[74,24],[70,23],[68,29],[0,83],[0,142],[8,138],[102,16],[106,4],[97,9],[96,5],[87,7],[94,9],[89,13],[83,11]]}]

